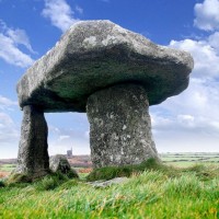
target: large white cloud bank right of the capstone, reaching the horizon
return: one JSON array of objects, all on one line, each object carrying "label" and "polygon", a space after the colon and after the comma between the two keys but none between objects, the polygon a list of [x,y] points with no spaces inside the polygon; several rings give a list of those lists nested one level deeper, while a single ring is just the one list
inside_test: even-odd
[{"label": "large white cloud bank right of the capstone, reaching the horizon", "polygon": [[[171,41],[194,58],[188,88],[151,107],[153,132],[160,151],[217,151],[219,142],[219,48],[214,33],[208,38]],[[174,143],[173,143],[174,142]],[[206,145],[208,143],[208,145]],[[163,146],[163,149],[162,149]]]}]

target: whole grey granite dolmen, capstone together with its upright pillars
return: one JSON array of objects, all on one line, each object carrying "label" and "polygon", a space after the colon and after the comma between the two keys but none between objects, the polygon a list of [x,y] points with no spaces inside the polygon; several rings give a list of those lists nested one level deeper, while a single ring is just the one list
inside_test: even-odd
[{"label": "whole grey granite dolmen, capstone together with its upright pillars", "polygon": [[48,173],[47,112],[87,113],[94,168],[158,158],[148,107],[185,90],[192,69],[189,54],[110,21],[76,23],[18,83],[24,117],[15,172]]}]

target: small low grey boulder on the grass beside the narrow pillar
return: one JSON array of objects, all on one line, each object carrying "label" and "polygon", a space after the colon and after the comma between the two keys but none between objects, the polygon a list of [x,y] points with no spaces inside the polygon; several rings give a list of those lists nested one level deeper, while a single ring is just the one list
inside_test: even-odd
[{"label": "small low grey boulder on the grass beside the narrow pillar", "polygon": [[79,177],[78,173],[73,169],[71,169],[70,163],[68,162],[68,159],[66,158],[66,155],[62,155],[62,154],[50,157],[49,169],[54,173],[60,172],[70,177]]}]

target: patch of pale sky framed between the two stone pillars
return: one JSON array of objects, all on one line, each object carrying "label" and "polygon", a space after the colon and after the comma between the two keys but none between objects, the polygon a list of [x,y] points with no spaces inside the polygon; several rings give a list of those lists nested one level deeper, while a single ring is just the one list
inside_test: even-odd
[{"label": "patch of pale sky framed between the two stone pillars", "polygon": [[[45,114],[45,116],[49,127],[48,150],[50,155],[56,153],[65,154],[71,148],[73,149],[73,154],[90,153],[89,122],[85,114]],[[60,119],[65,127],[59,126]]]}]

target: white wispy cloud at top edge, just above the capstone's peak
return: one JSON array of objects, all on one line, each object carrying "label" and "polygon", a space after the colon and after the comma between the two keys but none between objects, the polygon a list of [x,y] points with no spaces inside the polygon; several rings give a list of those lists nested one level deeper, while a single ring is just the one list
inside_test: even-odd
[{"label": "white wispy cloud at top edge, just above the capstone's peak", "polygon": [[[82,9],[77,7],[77,11],[82,12]],[[79,21],[74,18],[74,13],[66,0],[45,0],[45,8],[42,14],[62,32]]]}]

